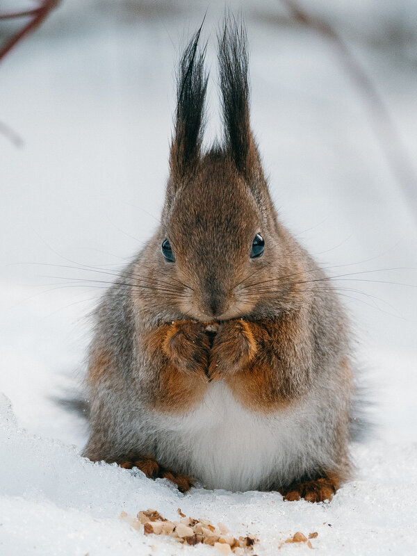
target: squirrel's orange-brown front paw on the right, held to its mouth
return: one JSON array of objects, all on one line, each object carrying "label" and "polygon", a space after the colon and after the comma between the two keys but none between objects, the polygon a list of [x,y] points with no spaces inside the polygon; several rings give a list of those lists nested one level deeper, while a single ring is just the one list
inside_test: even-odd
[{"label": "squirrel's orange-brown front paw on the right, held to its mouth", "polygon": [[244,368],[256,354],[256,340],[245,320],[229,320],[214,338],[208,376],[221,379]]}]

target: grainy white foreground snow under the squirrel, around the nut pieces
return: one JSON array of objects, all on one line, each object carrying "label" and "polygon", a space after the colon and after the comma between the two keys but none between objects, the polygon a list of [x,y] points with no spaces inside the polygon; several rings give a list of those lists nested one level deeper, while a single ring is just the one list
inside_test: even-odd
[{"label": "grainy white foreground snow under the squirrel, around the nut pieces", "polygon": [[[259,538],[255,553],[274,555],[297,531],[318,532],[323,554],[413,553],[417,534],[417,443],[356,446],[357,480],[332,503],[286,502],[278,493],[230,493],[195,488],[186,496],[166,480],[140,471],[92,464],[74,446],[33,436],[18,427],[11,404],[0,396],[0,553],[2,555],[212,555],[211,546],[179,545],[145,536],[120,520],[154,508],[177,519],[222,522],[236,535]],[[287,544],[283,553],[309,550]],[[220,553],[219,553],[220,554]]]}]

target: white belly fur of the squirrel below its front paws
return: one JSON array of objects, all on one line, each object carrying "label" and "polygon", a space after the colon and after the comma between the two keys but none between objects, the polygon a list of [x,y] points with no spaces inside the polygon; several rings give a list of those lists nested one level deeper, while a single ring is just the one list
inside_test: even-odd
[{"label": "white belly fur of the squirrel below its front paws", "polygon": [[267,489],[300,447],[291,409],[250,411],[222,382],[210,384],[193,411],[159,425],[157,459],[212,489]]}]

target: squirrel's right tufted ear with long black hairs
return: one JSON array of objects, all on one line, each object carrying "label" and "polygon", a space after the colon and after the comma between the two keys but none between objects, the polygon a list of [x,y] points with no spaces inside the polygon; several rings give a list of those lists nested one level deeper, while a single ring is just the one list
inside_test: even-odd
[{"label": "squirrel's right tufted ear with long black hairs", "polygon": [[218,61],[226,149],[236,167],[250,177],[259,156],[250,129],[246,29],[227,15],[218,36]]}]

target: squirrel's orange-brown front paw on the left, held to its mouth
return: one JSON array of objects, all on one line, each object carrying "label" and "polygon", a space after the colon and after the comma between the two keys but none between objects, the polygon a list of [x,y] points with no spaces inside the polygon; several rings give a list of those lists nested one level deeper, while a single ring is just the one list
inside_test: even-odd
[{"label": "squirrel's orange-brown front paw on the left, held to its mouth", "polygon": [[210,339],[201,322],[176,320],[163,341],[163,352],[179,370],[204,373],[208,367]]}]

